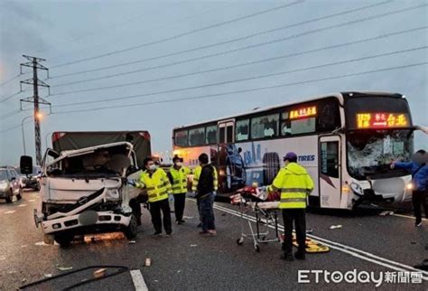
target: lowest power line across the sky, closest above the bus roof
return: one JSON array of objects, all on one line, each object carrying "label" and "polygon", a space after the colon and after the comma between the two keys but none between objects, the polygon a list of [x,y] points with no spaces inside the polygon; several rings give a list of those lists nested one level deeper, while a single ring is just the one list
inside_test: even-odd
[{"label": "lowest power line across the sky, closest above the bus roof", "polygon": [[259,88],[253,88],[253,89],[241,89],[241,90],[229,91],[229,92],[223,92],[223,93],[217,93],[217,94],[200,95],[200,96],[186,97],[186,98],[180,98],[180,99],[157,100],[157,101],[133,103],[133,104],[126,104],[126,105],[116,105],[116,106],[109,106],[109,107],[75,109],[75,110],[54,112],[52,114],[66,114],[66,113],[98,111],[98,110],[105,110],[105,109],[111,109],[111,108],[114,108],[114,109],[116,109],[116,108],[131,108],[131,107],[135,107],[135,106],[144,106],[144,105],[161,104],[161,103],[172,103],[172,102],[178,102],[178,101],[183,101],[183,100],[191,100],[191,99],[209,99],[212,97],[226,96],[226,95],[238,94],[238,93],[254,92],[254,91],[260,91],[260,90],[265,90],[265,89],[284,88],[284,87],[288,87],[288,86],[302,85],[302,84],[313,83],[313,82],[318,82],[318,81],[323,81],[323,80],[343,79],[343,78],[355,77],[355,76],[359,76],[359,75],[376,73],[376,72],[387,71],[387,70],[398,70],[398,69],[411,68],[411,67],[416,67],[416,66],[421,66],[421,65],[426,65],[426,64],[428,64],[428,61],[417,62],[417,63],[413,63],[413,64],[407,64],[407,65],[396,66],[396,67],[383,68],[383,69],[378,69],[378,70],[360,71],[357,73],[350,73],[350,74],[346,74],[346,75],[337,75],[337,76],[326,77],[326,78],[321,78],[321,79],[303,80],[303,81],[285,83],[285,84],[274,85],[274,86],[259,87]]}]

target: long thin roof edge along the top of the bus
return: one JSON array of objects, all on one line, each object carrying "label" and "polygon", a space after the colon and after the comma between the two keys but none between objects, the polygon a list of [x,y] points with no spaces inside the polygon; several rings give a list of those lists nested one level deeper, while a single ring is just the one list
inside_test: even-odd
[{"label": "long thin roof edge along the top of the bus", "polygon": [[220,118],[216,118],[216,119],[209,119],[209,120],[205,120],[205,121],[201,121],[198,123],[193,123],[193,124],[189,124],[189,125],[183,125],[181,127],[174,127],[173,130],[175,129],[180,129],[180,128],[185,128],[185,127],[196,127],[199,125],[203,125],[203,124],[208,124],[208,123],[215,123],[218,122],[220,120],[227,120],[227,119],[231,119],[231,118],[235,118],[235,117],[242,117],[242,116],[246,116],[248,114],[253,114],[253,113],[259,113],[259,112],[264,112],[264,111],[268,111],[268,110],[272,110],[272,109],[276,109],[276,108],[282,108],[285,106],[290,106],[290,105],[294,105],[294,104],[299,104],[299,103],[304,103],[304,102],[309,102],[309,101],[313,101],[313,100],[317,100],[317,99],[324,99],[324,98],[328,98],[328,97],[336,97],[339,102],[340,105],[343,105],[343,101],[346,98],[352,98],[354,96],[358,96],[358,97],[362,97],[362,96],[388,96],[388,97],[403,97],[403,95],[398,94],[398,93],[391,93],[391,92],[382,92],[382,91],[346,91],[346,92],[340,92],[340,93],[331,93],[331,94],[323,94],[323,95],[318,95],[315,97],[312,97],[310,99],[302,99],[299,102],[287,102],[287,103],[283,103],[280,105],[275,105],[272,107],[266,107],[266,108],[255,108],[251,111],[247,111],[245,113],[240,113],[237,115],[233,115],[233,116],[228,116],[228,117],[220,117]]}]

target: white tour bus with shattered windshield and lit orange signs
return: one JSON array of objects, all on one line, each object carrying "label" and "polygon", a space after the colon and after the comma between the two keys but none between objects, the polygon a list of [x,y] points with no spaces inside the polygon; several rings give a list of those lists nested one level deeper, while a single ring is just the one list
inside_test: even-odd
[{"label": "white tour bus with shattered windshield and lit orange signs", "polygon": [[411,197],[410,174],[390,164],[411,157],[414,129],[403,95],[344,92],[176,127],[172,143],[191,168],[209,155],[219,194],[272,183],[293,151],[315,183],[309,206],[352,209]]}]

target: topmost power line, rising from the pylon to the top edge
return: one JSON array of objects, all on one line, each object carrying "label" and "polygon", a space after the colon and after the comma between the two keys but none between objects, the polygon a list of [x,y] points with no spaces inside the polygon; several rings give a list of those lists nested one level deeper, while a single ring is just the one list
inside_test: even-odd
[{"label": "topmost power line, rising from the pylon to the top edge", "polygon": [[240,17],[237,17],[237,18],[225,21],[225,22],[214,23],[214,24],[210,24],[208,26],[204,26],[204,27],[200,27],[200,28],[197,28],[197,29],[193,29],[193,30],[185,32],[185,33],[175,34],[175,35],[172,35],[172,36],[169,36],[169,37],[166,37],[166,38],[154,41],[154,42],[145,42],[143,44],[135,45],[135,46],[128,47],[126,49],[122,49],[122,50],[118,50],[118,51],[106,52],[106,53],[98,54],[96,56],[79,59],[79,60],[76,60],[76,61],[64,62],[64,63],[58,64],[58,65],[52,66],[51,68],[52,69],[53,68],[60,68],[60,67],[64,67],[64,66],[69,66],[71,64],[79,63],[79,62],[82,62],[82,61],[96,60],[96,59],[104,58],[104,57],[107,57],[107,56],[110,56],[110,55],[113,55],[113,54],[116,54],[116,53],[129,52],[129,51],[133,51],[133,50],[136,50],[136,49],[139,49],[139,48],[142,48],[142,47],[146,47],[146,46],[149,46],[149,45],[154,45],[154,44],[161,43],[161,42],[172,41],[172,40],[181,38],[183,36],[187,36],[187,35],[190,35],[190,34],[193,34],[193,33],[200,33],[200,32],[209,30],[211,28],[223,26],[223,25],[226,25],[226,24],[229,24],[229,23],[236,23],[238,21],[241,21],[241,20],[244,20],[244,19],[248,19],[248,18],[251,18],[251,17],[255,17],[255,16],[258,16],[258,15],[261,15],[261,14],[267,14],[267,13],[273,12],[275,10],[279,10],[279,9],[283,9],[283,8],[286,8],[286,7],[289,7],[289,6],[301,4],[302,2],[303,1],[297,1],[297,2],[293,2],[291,4],[279,5],[279,6],[276,6],[274,8],[269,8],[269,9],[266,9],[266,10],[262,10],[262,11],[256,12],[254,14],[247,14],[247,15],[244,15],[244,16],[240,16]]}]

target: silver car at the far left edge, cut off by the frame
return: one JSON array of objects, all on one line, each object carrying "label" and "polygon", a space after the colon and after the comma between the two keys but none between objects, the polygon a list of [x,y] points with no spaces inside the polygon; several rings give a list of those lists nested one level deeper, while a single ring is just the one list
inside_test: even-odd
[{"label": "silver car at the far left edge, cut off by the frame", "polygon": [[19,175],[13,167],[0,167],[0,199],[5,199],[11,203],[16,196],[17,200],[23,198],[23,189],[19,180]]}]

